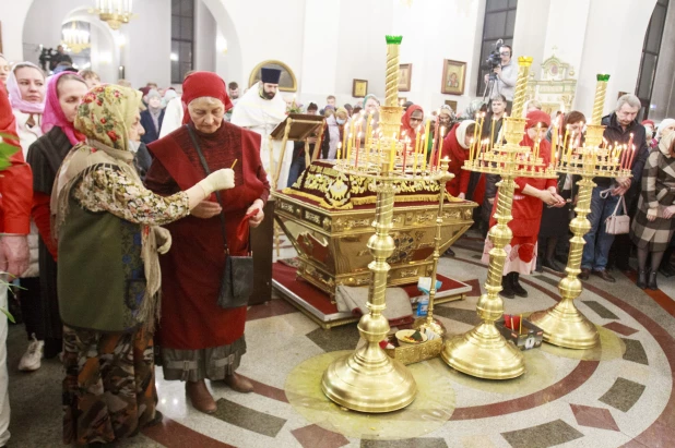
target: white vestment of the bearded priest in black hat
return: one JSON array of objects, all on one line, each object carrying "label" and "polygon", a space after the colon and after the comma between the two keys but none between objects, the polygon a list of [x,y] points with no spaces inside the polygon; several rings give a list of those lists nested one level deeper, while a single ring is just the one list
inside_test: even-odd
[{"label": "white vestment of the bearded priest in black hat", "polygon": [[[277,93],[272,99],[264,99],[260,97],[258,86],[252,86],[248,89],[244,96],[239,98],[237,105],[232,112],[232,124],[236,124],[241,128],[249,129],[257,132],[262,136],[262,143],[260,145],[260,159],[262,166],[268,172],[268,180],[272,182],[272,178],[279,169],[281,162],[281,171],[279,174],[279,181],[276,189],[283,189],[286,186],[288,180],[288,170],[291,169],[291,162],[293,161],[293,142],[286,143],[286,150],[284,152],[284,159],[281,159],[281,141],[274,141],[272,143],[273,154],[270,154],[270,134],[279,123],[286,119],[286,101]],[[272,156],[274,159],[272,160]],[[272,164],[272,167],[270,166]],[[274,172],[272,172],[272,169]]]}]

